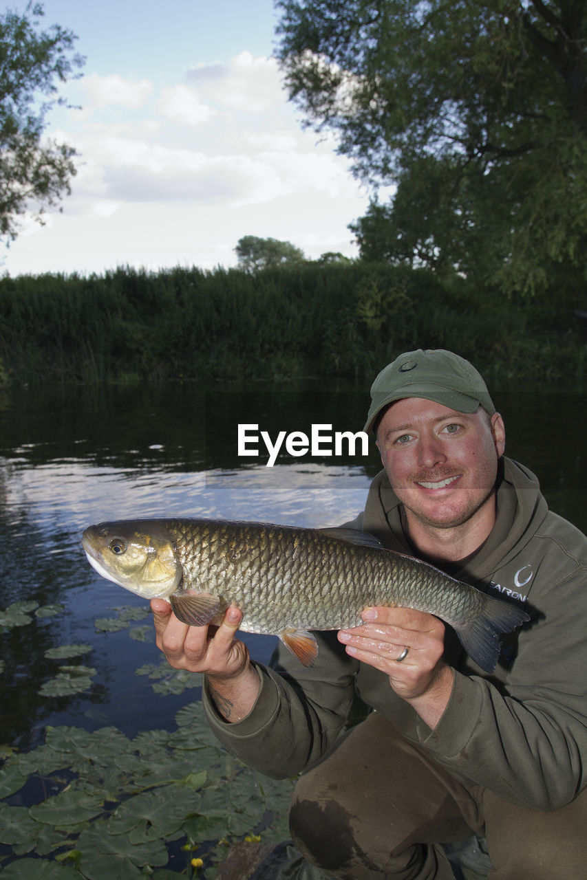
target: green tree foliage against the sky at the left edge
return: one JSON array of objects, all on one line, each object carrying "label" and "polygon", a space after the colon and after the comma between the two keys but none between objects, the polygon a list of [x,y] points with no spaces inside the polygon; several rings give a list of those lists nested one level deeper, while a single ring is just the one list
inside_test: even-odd
[{"label": "green tree foliage against the sky at the left edge", "polygon": [[72,54],[77,39],[53,25],[42,31],[41,4],[0,15],[0,238],[16,238],[19,216],[41,220],[45,208],[70,192],[76,151],[43,138],[48,111],[84,59]]}]

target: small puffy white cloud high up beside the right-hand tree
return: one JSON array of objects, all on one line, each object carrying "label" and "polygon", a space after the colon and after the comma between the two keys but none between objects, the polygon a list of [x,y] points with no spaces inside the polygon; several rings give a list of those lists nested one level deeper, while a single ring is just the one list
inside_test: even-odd
[{"label": "small puffy white cloud high up beside the right-hand tree", "polygon": [[276,60],[254,58],[250,52],[227,63],[198,64],[186,78],[205,99],[249,113],[263,113],[285,98]]}]

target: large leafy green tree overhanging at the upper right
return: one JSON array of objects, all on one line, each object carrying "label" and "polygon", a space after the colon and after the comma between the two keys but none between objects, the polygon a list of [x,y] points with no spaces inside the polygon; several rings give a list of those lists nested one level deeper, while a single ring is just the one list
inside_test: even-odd
[{"label": "large leafy green tree overhanging at the upper right", "polygon": [[352,227],[361,255],[510,291],[544,288],[561,267],[584,279],[584,0],[278,7],[290,98],[374,187]]}]

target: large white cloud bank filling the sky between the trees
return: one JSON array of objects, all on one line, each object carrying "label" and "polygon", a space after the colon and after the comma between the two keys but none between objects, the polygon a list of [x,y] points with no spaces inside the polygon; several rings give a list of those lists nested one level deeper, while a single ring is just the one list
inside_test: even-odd
[{"label": "large white cloud bank filling the sky between the trees", "polygon": [[310,257],[354,253],[346,224],[365,193],[333,137],[316,143],[301,130],[277,62],[242,52],[181,77],[76,81],[71,103],[86,109],[52,132],[80,154],[72,194],[47,227],[19,237],[11,272],[234,265],[245,234],[292,241]]}]

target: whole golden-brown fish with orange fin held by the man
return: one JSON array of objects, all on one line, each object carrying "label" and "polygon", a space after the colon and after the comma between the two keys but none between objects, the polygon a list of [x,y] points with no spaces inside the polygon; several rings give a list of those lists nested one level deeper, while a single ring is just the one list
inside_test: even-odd
[{"label": "whole golden-brown fish with orange fin held by the man", "polygon": [[516,605],[345,527],[130,519],[89,526],[82,546],[101,576],[142,598],[167,599],[190,626],[219,624],[236,605],[243,632],[278,635],[305,666],[318,652],[312,630],[360,626],[366,607],[435,614],[487,672],[500,635],[530,620]]}]

